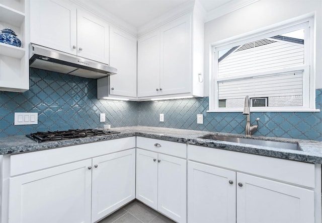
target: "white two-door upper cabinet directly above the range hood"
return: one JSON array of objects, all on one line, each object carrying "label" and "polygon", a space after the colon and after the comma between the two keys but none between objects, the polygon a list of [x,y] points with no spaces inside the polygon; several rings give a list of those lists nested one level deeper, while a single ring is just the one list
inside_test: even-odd
[{"label": "white two-door upper cabinet directly above the range hood", "polygon": [[30,42],[109,64],[104,20],[69,1],[31,0],[30,14]]}]

